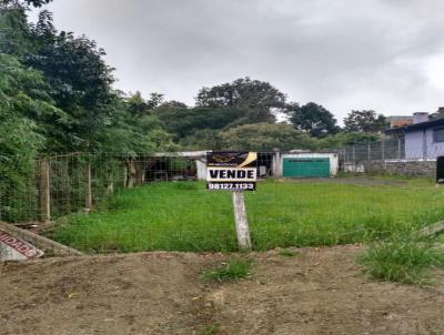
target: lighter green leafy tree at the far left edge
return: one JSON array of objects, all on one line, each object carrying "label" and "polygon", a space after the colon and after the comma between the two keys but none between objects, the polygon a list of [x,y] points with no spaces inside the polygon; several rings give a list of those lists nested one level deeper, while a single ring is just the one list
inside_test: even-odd
[{"label": "lighter green leafy tree at the far left edge", "polygon": [[24,217],[31,205],[26,195],[36,192],[30,183],[34,159],[48,145],[46,135],[52,131],[43,124],[63,116],[46,89],[40,72],[0,53],[0,212],[6,221]]}]

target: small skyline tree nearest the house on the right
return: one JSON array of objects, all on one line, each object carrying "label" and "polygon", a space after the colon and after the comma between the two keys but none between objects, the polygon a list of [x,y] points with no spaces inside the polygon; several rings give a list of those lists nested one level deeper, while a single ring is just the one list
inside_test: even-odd
[{"label": "small skyline tree nearest the house on the right", "polygon": [[372,110],[351,111],[344,118],[346,132],[381,132],[389,126],[387,119],[383,114],[376,114]]}]

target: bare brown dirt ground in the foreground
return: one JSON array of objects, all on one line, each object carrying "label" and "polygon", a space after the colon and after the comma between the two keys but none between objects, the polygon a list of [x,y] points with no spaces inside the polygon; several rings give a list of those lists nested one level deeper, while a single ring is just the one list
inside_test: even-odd
[{"label": "bare brown dirt ground in the foreground", "polygon": [[251,275],[205,283],[222,254],[140,253],[0,266],[0,334],[444,334],[430,288],[365,278],[359,246],[254,253]]}]

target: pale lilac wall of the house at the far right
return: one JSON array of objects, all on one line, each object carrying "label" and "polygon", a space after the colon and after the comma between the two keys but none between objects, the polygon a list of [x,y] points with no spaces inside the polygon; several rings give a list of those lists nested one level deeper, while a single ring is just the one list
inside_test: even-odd
[{"label": "pale lilac wall of the house at the far right", "polygon": [[444,155],[444,142],[433,142],[433,129],[405,133],[405,159],[435,159]]}]

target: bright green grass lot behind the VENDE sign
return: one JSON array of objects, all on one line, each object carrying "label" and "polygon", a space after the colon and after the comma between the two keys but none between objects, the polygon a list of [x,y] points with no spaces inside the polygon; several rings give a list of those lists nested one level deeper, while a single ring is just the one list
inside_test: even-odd
[{"label": "bright green grass lot behind the VENDE sign", "polygon": [[[444,219],[444,190],[430,180],[269,180],[245,201],[255,250],[373,242]],[[200,182],[120,191],[52,237],[93,252],[238,250],[230,192]]]}]

